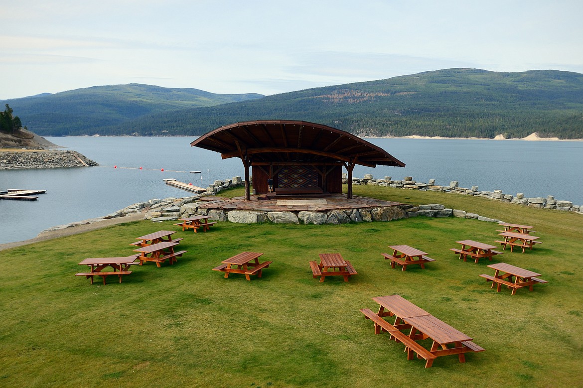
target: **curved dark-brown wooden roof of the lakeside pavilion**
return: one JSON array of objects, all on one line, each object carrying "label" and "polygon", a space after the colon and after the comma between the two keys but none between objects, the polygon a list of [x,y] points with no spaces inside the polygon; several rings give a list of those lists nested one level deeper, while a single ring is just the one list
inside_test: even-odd
[{"label": "curved dark-brown wooden roof of the lakeside pavilion", "polygon": [[191,146],[254,162],[356,163],[368,167],[405,163],[352,133],[293,120],[236,122],[213,129]]}]

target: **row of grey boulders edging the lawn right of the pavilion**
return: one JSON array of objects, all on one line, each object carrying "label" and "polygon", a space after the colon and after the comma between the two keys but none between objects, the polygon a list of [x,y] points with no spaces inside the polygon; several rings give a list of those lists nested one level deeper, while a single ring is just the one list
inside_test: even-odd
[{"label": "row of grey boulders edging the lawn right of the pavilion", "polygon": [[[347,183],[346,174],[342,175],[343,183]],[[517,195],[505,194],[501,190],[479,191],[478,186],[471,188],[459,187],[458,181],[449,182],[448,186],[436,185],[435,179],[430,179],[429,182],[413,181],[412,177],[405,177],[402,181],[394,181],[391,177],[384,177],[384,179],[374,179],[373,175],[365,174],[364,178],[352,178],[353,185],[377,185],[396,189],[415,189],[421,191],[441,191],[448,193],[457,193],[461,195],[473,195],[477,197],[484,197],[487,199],[499,200],[508,203],[521,204],[523,206],[539,207],[541,209],[555,209],[563,211],[575,211],[583,214],[583,205],[573,204],[567,200],[556,200],[554,196],[533,197],[526,198],[523,193]]]}]

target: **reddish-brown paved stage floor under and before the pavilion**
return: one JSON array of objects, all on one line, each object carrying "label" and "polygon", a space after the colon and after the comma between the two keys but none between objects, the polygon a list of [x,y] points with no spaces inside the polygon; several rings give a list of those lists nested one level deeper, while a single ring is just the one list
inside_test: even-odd
[{"label": "reddish-brown paved stage floor under and before the pavilion", "polygon": [[252,195],[250,200],[245,197],[231,199],[208,196],[201,200],[208,202],[201,204],[199,209],[211,210],[257,210],[257,211],[331,211],[346,209],[372,209],[374,207],[398,206],[402,203],[379,199],[353,196],[346,199],[346,194],[332,194],[329,197],[314,199],[313,197],[286,197],[285,200],[268,198],[265,195]]}]

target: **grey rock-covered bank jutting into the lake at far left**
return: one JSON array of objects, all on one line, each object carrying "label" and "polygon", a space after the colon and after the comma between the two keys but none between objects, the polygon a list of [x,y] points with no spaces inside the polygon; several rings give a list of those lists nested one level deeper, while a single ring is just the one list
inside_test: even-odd
[{"label": "grey rock-covered bank jutting into the lake at far left", "polygon": [[0,151],[0,170],[24,168],[68,168],[99,165],[76,151],[14,150]]}]

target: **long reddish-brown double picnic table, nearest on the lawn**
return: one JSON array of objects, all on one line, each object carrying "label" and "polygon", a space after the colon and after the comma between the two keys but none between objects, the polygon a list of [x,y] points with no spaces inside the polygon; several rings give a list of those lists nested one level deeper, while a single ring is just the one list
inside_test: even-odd
[{"label": "long reddish-brown double picnic table, nearest on the lawn", "polygon": [[[373,320],[374,333],[387,331],[389,339],[405,345],[408,360],[414,358],[414,353],[418,358],[425,359],[425,368],[430,368],[437,357],[456,354],[459,362],[465,362],[465,353],[484,351],[484,348],[473,343],[472,337],[449,326],[400,295],[375,297],[373,301],[380,305],[378,313],[370,309],[360,311],[366,319]],[[395,316],[395,324],[382,318],[385,316]],[[409,334],[402,333],[401,330],[409,330]],[[427,338],[433,340],[429,350],[416,342]]]}]

